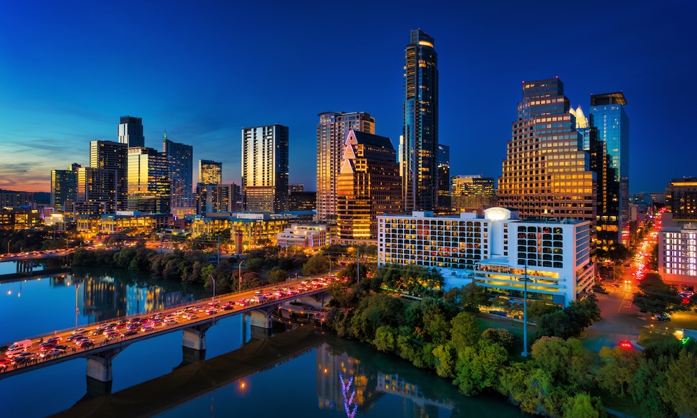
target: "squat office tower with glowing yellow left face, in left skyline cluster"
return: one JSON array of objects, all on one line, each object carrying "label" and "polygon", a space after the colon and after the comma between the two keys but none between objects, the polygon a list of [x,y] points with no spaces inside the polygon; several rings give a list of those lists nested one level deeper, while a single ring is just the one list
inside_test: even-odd
[{"label": "squat office tower with glowing yellow left face, in left skyline cluster", "polygon": [[169,213],[169,161],[153,148],[128,148],[128,210]]}]

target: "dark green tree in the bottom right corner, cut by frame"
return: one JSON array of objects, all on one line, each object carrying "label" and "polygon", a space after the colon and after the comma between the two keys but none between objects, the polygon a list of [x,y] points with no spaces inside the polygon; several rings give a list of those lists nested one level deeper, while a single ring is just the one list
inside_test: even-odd
[{"label": "dark green tree in the bottom right corner, cut by frame", "polygon": [[680,417],[697,416],[697,356],[683,350],[668,364],[664,399]]}]

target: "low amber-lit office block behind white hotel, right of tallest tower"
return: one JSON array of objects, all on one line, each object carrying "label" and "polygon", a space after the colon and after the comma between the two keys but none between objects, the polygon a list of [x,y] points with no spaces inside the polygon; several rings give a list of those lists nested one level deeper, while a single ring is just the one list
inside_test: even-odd
[{"label": "low amber-lit office block behind white hotel, right of tallest tower", "polygon": [[491,177],[454,176],[450,193],[454,212],[474,212],[496,206],[496,190]]}]

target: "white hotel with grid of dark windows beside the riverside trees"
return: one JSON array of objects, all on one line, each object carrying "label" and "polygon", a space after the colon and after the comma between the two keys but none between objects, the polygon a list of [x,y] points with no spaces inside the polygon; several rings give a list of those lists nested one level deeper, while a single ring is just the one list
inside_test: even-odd
[{"label": "white hotel with grid of dark windows beside the riverside trees", "polygon": [[433,212],[378,216],[378,266],[437,268],[445,290],[475,282],[493,295],[562,304],[591,292],[590,222],[518,219],[518,212],[489,208],[484,216]]}]

